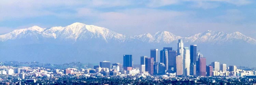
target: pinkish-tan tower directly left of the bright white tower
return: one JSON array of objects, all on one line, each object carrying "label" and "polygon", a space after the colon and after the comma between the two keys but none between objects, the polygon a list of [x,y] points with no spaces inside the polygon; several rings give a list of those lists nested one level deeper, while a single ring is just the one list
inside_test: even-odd
[{"label": "pinkish-tan tower directly left of the bright white tower", "polygon": [[182,56],[181,55],[177,55],[176,56],[176,64],[175,64],[175,66],[176,66],[176,75],[177,76],[180,76],[180,75],[182,75],[183,74],[183,63],[182,63],[182,60],[183,60],[183,58],[182,58]]}]

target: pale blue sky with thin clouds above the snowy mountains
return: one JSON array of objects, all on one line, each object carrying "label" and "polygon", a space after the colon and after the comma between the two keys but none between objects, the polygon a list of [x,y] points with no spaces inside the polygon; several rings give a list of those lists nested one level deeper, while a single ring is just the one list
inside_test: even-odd
[{"label": "pale blue sky with thin clouds above the snowy mountains", "polygon": [[0,34],[81,22],[130,36],[169,31],[185,37],[212,30],[256,39],[255,5],[254,0],[4,0]]}]

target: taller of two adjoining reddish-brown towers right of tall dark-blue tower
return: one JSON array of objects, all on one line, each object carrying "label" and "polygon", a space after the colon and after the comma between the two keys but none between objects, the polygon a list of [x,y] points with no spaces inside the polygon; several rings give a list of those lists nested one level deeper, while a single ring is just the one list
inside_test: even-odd
[{"label": "taller of two adjoining reddish-brown towers right of tall dark-blue tower", "polygon": [[199,76],[206,76],[206,58],[199,58]]}]

